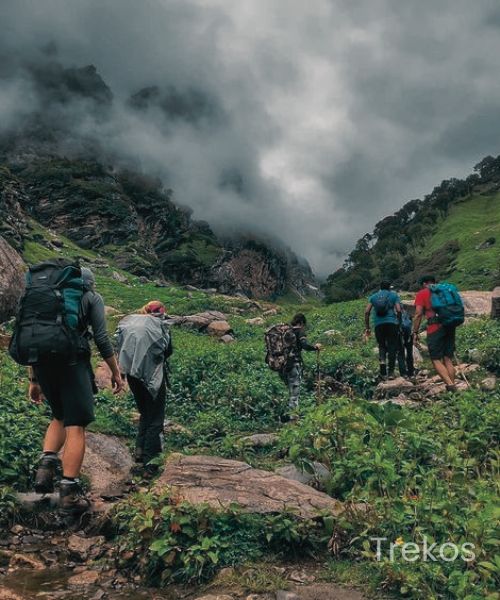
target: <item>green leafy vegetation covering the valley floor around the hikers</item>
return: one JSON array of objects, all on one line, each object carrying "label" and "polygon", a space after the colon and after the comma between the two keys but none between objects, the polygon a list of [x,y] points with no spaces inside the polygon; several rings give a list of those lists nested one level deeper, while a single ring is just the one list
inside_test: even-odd
[{"label": "green leafy vegetation covering the valley floor around the hikers", "polygon": [[[43,228],[38,233],[42,238],[50,235]],[[47,250],[42,241],[33,241],[27,245],[27,258],[45,257]],[[74,248],[68,243],[66,250],[71,254]],[[88,264],[95,261],[93,253],[85,253],[85,258]],[[173,314],[222,310],[237,339],[224,345],[206,335],[173,329],[167,417],[184,429],[166,437],[167,454],[215,454],[269,470],[289,462],[308,468],[317,460],[330,469],[329,494],[369,507],[348,518],[300,523],[289,514],[216,513],[141,492],[116,509],[116,547],[133,557],[124,558],[122,566],[154,584],[168,585],[211,578],[225,566],[257,565],[258,581],[245,584],[251,592],[273,589],[277,576],[266,574],[272,571],[269,565],[312,556],[321,577],[360,583],[367,591],[431,600],[498,598],[500,388],[485,393],[477,387],[488,370],[500,375],[498,323],[477,320],[460,330],[460,358],[474,349],[482,364],[472,390],[445,395],[418,409],[382,406],[371,400],[377,360],[374,342],[365,344],[361,337],[363,301],[329,306],[284,302],[277,305],[278,315],[264,316],[264,325],[255,326],[245,320],[262,311],[245,300],[176,286],[158,288],[123,271],[126,281],[119,282],[113,271],[113,264],[95,266],[97,286],[108,306],[126,313],[158,298]],[[325,389],[318,397],[315,355],[306,353],[300,420],[282,426],[286,391],[264,363],[263,334],[271,323],[287,320],[299,309],[309,319],[310,339],[325,344],[323,379],[347,385],[352,393],[348,397]],[[110,330],[117,318],[110,317]],[[0,528],[2,521],[10,526],[15,515],[12,489],[29,489],[32,483],[49,418],[46,407],[27,402],[26,386],[25,370],[0,350]],[[100,392],[92,429],[125,436],[132,445],[133,411],[130,395],[115,398]],[[251,449],[241,442],[244,434],[264,431],[278,432],[275,446]],[[477,558],[473,563],[379,562],[370,542],[382,536],[420,544],[424,535],[440,543],[473,543]]]}]

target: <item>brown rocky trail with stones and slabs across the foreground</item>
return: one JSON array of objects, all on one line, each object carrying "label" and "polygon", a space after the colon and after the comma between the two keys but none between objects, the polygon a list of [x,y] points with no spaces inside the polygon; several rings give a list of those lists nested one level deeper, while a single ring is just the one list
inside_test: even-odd
[{"label": "brown rocky trail with stones and slabs across the foreground", "polygon": [[[259,436],[266,435],[273,443],[272,434],[256,434],[250,436],[255,440],[245,443],[261,442]],[[57,517],[56,494],[19,494],[18,523],[0,539],[0,600],[363,600],[355,589],[321,582],[321,565],[307,558],[273,567],[287,589],[272,593],[248,593],[241,585],[226,583],[234,579],[232,568],[223,569],[206,589],[143,587],[138,577],[119,569],[119,552],[106,516],[120,498],[136,489],[130,482],[131,466],[130,452],[119,438],[89,433],[83,475],[90,482],[93,512],[69,527]],[[224,509],[238,502],[248,512],[288,509],[300,518],[312,518],[320,510],[339,514],[362,509],[344,506],[297,481],[302,477],[313,485],[315,478],[294,469],[282,468],[279,474],[219,457],[173,454],[152,489],[160,493],[168,488],[192,504],[208,502]],[[249,569],[239,571],[248,577]]]}]

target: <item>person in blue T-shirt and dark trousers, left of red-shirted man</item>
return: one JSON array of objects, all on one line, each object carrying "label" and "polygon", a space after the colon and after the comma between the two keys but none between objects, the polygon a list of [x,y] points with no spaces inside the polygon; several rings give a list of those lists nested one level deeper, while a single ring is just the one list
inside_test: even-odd
[{"label": "person in blue T-shirt and dark trousers, left of red-shirted man", "polygon": [[370,314],[372,311],[379,352],[380,377],[392,379],[399,345],[401,300],[396,292],[391,290],[389,281],[382,281],[380,290],[368,299],[365,309],[365,336],[367,338],[371,335]]}]

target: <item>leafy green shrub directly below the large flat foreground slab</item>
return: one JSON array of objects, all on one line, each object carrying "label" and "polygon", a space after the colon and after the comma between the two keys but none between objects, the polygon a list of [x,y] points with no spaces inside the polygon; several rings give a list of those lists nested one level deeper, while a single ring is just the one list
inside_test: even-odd
[{"label": "leafy green shrub directly below the large flat foreground slab", "polygon": [[[320,524],[293,515],[224,512],[207,505],[175,504],[167,496],[137,495],[115,509],[120,535],[120,566],[150,583],[204,580],[224,566],[260,559],[264,554],[294,556],[323,548]],[[133,555],[124,554],[133,550]]]}]

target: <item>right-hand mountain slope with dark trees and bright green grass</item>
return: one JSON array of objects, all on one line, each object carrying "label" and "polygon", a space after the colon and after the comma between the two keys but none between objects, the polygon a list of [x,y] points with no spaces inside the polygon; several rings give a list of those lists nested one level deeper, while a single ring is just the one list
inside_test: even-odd
[{"label": "right-hand mountain slope with dark trees and bright green grass", "polygon": [[500,284],[500,156],[484,158],[465,180],[443,181],[358,240],[324,286],[332,302],[358,298],[381,278],[415,289],[434,273],[462,289]]}]

